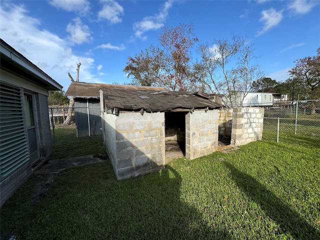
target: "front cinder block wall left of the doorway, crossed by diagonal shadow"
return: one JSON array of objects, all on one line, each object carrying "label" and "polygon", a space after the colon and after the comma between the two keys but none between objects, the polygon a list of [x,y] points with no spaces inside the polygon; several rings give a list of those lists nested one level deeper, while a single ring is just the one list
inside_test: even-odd
[{"label": "front cinder block wall left of the doorway, crossed by diagonal shadow", "polygon": [[164,167],[164,112],[120,112],[115,117],[115,130],[117,179]]}]

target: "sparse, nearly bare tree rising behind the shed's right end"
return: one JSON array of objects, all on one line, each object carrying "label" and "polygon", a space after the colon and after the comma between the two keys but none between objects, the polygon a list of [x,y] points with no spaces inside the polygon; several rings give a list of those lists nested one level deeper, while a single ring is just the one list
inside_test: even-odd
[{"label": "sparse, nearly bare tree rising behind the shed's right end", "polygon": [[[252,82],[263,77],[258,64],[252,64],[256,58],[253,54],[253,44],[248,45],[246,39],[237,35],[232,41],[225,39],[212,42],[213,47],[201,44],[198,53],[201,61],[197,63],[198,78],[212,92],[225,94],[231,106],[235,103],[242,105],[244,97],[252,89]],[[237,91],[243,92],[238,98]]]}]

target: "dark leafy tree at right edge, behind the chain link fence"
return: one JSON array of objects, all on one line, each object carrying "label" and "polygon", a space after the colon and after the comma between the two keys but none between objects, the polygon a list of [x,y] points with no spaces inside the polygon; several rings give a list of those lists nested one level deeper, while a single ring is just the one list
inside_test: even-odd
[{"label": "dark leafy tree at right edge, behind the chain link fence", "polygon": [[[295,60],[295,66],[289,70],[296,82],[304,84],[305,99],[320,98],[320,47],[316,50],[316,56],[306,56]],[[311,104],[311,114],[315,113],[315,104]]]}]

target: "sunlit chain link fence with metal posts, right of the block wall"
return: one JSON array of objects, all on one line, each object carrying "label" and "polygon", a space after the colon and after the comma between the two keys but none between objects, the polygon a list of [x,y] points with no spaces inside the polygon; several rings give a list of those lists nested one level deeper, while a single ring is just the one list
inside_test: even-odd
[{"label": "sunlit chain link fence with metal posts, right of the block wall", "polygon": [[320,99],[291,101],[264,109],[263,133],[320,136]]}]

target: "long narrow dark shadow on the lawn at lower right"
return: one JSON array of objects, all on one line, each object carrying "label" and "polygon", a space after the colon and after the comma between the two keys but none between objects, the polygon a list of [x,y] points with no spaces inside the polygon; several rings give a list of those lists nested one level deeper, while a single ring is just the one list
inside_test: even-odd
[{"label": "long narrow dark shadow on the lawn at lower right", "polygon": [[295,240],[320,239],[320,232],[309,225],[299,213],[282,202],[274,193],[266,189],[250,175],[241,172],[232,164],[224,162],[231,171],[231,178],[236,185],[274,221],[281,230],[289,232]]}]

